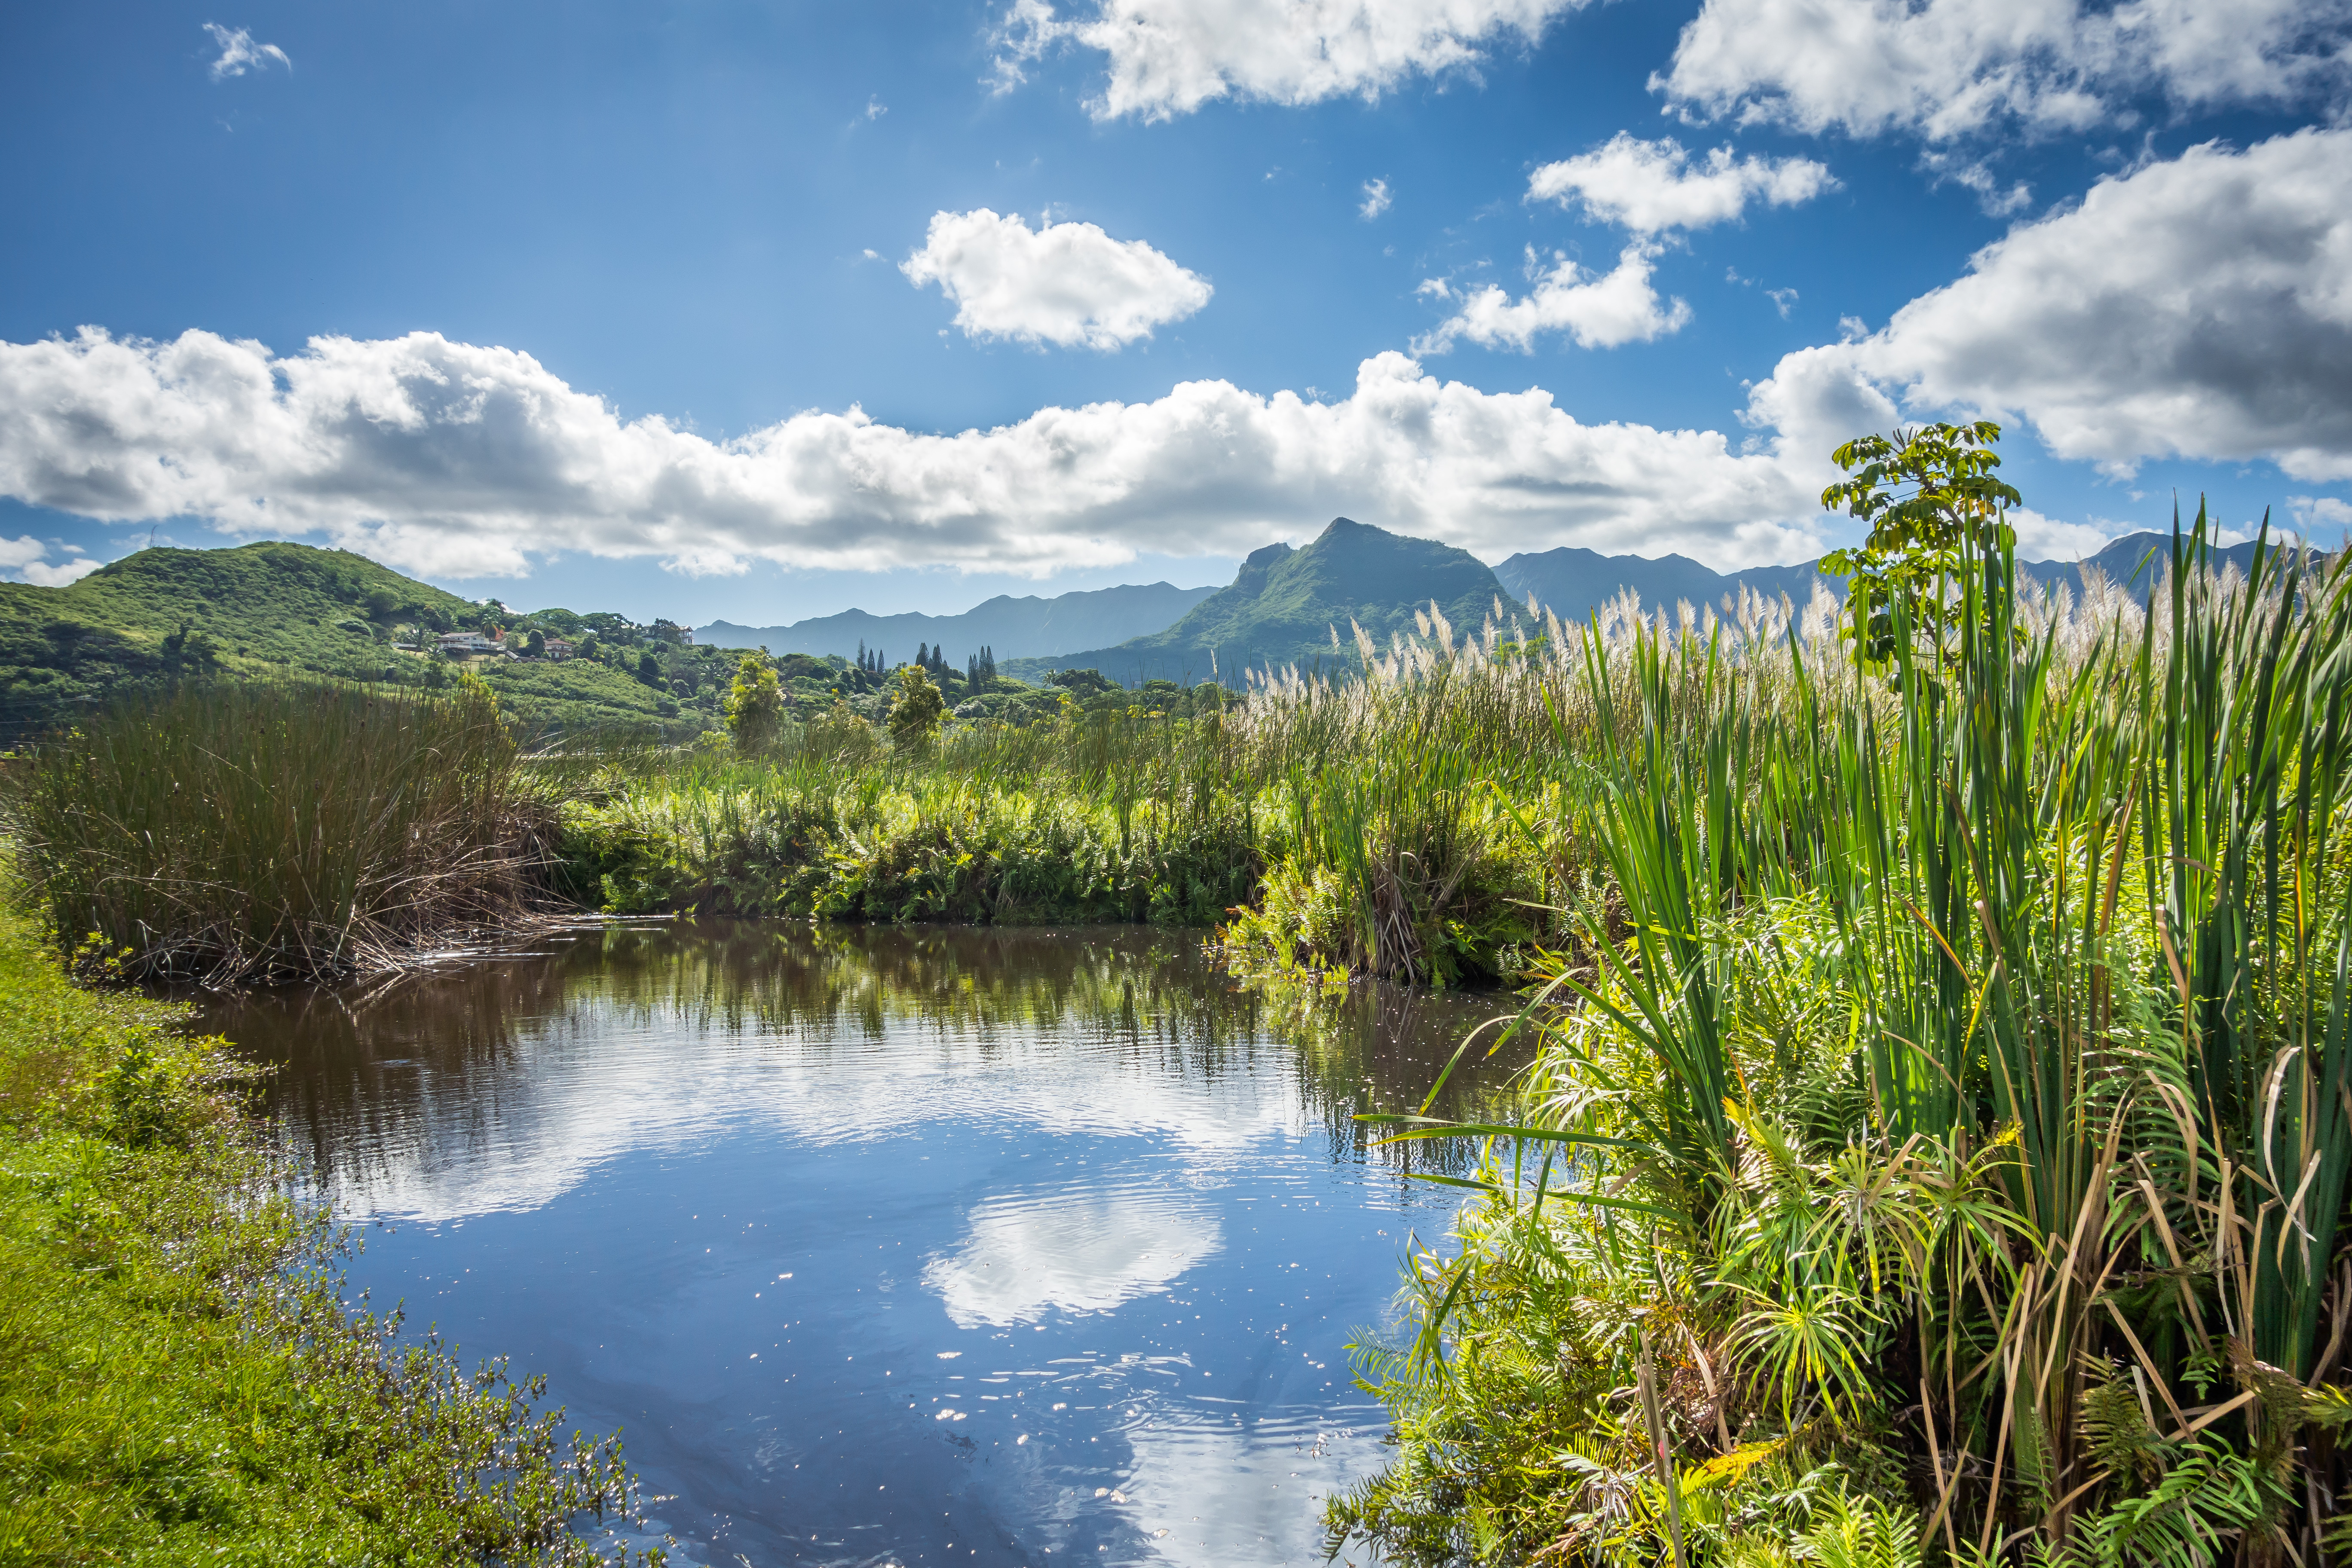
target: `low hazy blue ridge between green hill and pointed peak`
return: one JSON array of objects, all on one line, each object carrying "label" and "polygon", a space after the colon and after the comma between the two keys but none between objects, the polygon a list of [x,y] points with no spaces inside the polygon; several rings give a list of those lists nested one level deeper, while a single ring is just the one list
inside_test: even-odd
[{"label": "low hazy blue ridge between green hill and pointed peak", "polygon": [[1129,583],[1084,588],[1051,599],[997,595],[960,616],[870,616],[863,609],[844,609],[837,616],[816,616],[790,625],[713,621],[696,628],[694,639],[722,649],[764,646],[779,656],[856,654],[863,642],[868,649],[887,651],[891,661],[913,658],[915,644],[927,642],[946,649],[948,661],[957,665],[969,654],[978,654],[981,646],[993,649],[997,663],[1004,663],[1007,658],[1091,649],[1134,637],[1138,630],[1157,632],[1214,592],[1216,588]]}]

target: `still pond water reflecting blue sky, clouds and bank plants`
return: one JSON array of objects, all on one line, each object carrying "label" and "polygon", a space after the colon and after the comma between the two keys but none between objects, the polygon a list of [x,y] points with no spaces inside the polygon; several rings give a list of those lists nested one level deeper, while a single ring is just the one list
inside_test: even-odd
[{"label": "still pond water reflecting blue sky, clouds and bank plants", "polygon": [[619,1427],[673,1561],[1240,1566],[1319,1561],[1383,1460],[1345,1345],[1458,1190],[1350,1117],[1494,1011],[1181,933],[706,922],[207,1023],[369,1225],[353,1284]]}]

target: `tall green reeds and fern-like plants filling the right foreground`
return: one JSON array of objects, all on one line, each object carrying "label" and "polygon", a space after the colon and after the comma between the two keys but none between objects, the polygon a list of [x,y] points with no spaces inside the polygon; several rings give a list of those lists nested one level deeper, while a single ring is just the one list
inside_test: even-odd
[{"label": "tall green reeds and fern-like plants filling the right foreground", "polygon": [[1588,658],[1621,917],[1536,966],[1336,1544],[1778,1563],[1832,1483],[1907,1561],[2352,1544],[2352,559],[2206,536],[2152,602],[1966,543],[1886,663]]}]

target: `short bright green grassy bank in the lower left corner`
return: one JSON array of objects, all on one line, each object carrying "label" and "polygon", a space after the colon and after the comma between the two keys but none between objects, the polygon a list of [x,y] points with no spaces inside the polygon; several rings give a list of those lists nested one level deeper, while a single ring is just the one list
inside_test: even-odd
[{"label": "short bright green grassy bank in the lower left corner", "polygon": [[567,1563],[619,1441],[353,1316],[181,1011],[0,910],[0,1563]]}]

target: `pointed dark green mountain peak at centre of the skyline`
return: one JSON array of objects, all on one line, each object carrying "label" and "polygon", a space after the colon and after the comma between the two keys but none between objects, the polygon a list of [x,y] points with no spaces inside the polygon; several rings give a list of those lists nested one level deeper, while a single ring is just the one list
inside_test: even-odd
[{"label": "pointed dark green mountain peak at centre of the skyline", "polygon": [[[1505,597],[1503,585],[1468,550],[1334,517],[1303,550],[1265,545],[1251,552],[1232,583],[1164,632],[1023,661],[1007,672],[1035,679],[1047,670],[1094,668],[1134,686],[1152,677],[1202,682],[1214,665],[1228,686],[1237,686],[1244,670],[1352,665],[1350,621],[1385,649],[1390,632],[1411,630],[1414,611],[1432,599],[1461,635],[1484,625],[1498,597]],[[1336,656],[1334,630],[1341,642]]]}]

